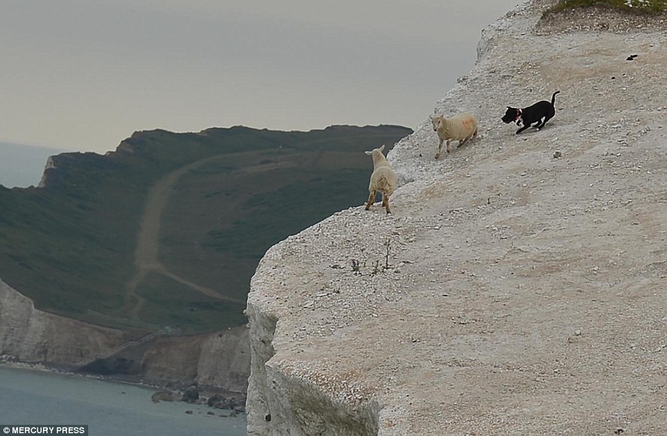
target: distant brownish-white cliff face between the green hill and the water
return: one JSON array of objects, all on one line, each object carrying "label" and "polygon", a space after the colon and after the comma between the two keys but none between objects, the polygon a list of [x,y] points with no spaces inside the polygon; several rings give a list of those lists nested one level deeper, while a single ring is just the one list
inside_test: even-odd
[{"label": "distant brownish-white cliff face between the green hill and the water", "polygon": [[[248,386],[248,329],[245,326],[205,335],[156,337],[125,351],[136,333],[105,329],[35,309],[0,281],[0,356],[21,362],[76,370],[114,349],[137,361],[142,380],[157,385],[217,387],[243,395]],[[137,378],[138,379],[138,378]]]}]

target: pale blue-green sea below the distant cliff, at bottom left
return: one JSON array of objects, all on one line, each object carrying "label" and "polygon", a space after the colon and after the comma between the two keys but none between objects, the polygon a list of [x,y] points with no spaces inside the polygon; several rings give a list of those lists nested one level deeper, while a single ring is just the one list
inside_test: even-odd
[{"label": "pale blue-green sea below the distant cliff, at bottom left", "polygon": [[244,414],[228,417],[229,410],[180,401],[153,403],[155,392],[140,385],[0,365],[0,427],[87,425],[90,436],[248,435]]}]

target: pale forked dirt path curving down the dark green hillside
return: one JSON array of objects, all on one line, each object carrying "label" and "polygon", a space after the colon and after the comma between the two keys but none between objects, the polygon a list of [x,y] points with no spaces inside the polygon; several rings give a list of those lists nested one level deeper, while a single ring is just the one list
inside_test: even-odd
[{"label": "pale forked dirt path curving down the dark green hillside", "polygon": [[139,234],[137,235],[137,248],[135,250],[136,272],[125,287],[125,303],[133,304],[132,319],[137,320],[139,313],[141,313],[141,308],[146,303],[146,299],[137,294],[137,288],[139,287],[139,284],[146,279],[150,272],[162,274],[164,277],[177,281],[199,293],[207,295],[208,297],[234,303],[245,303],[245,301],[240,299],[220,295],[214,289],[200,286],[188,279],[184,279],[183,277],[174,274],[165,268],[159,261],[158,256],[160,218],[162,217],[162,212],[169,199],[169,195],[171,195],[171,192],[173,191],[173,185],[180,177],[182,177],[182,175],[191,171],[193,168],[207,164],[218,158],[219,156],[207,157],[206,159],[201,159],[192,164],[183,166],[182,168],[178,168],[176,171],[173,171],[157,182],[157,184],[153,185],[153,187],[150,188],[150,191],[148,191],[146,208],[144,209],[144,216],[141,218]]}]

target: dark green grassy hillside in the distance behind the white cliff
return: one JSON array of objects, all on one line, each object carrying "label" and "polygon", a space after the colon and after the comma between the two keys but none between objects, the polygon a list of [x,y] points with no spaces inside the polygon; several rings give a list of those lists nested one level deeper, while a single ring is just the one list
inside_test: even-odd
[{"label": "dark green grassy hillside in the distance behind the white cliff", "polygon": [[[243,324],[266,249],[362,204],[372,171],[362,151],[410,132],[154,130],[106,155],[58,155],[43,188],[0,186],[0,278],[37,308],[94,324],[186,333]],[[151,225],[158,185],[166,200]],[[143,267],[140,234],[155,252]]]}]

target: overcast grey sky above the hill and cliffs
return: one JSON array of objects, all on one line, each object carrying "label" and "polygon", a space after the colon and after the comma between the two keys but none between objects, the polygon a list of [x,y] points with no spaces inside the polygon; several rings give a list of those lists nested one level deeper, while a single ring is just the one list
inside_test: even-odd
[{"label": "overcast grey sky above the hill and cliffs", "polygon": [[0,141],[415,128],[519,0],[0,0]]}]

